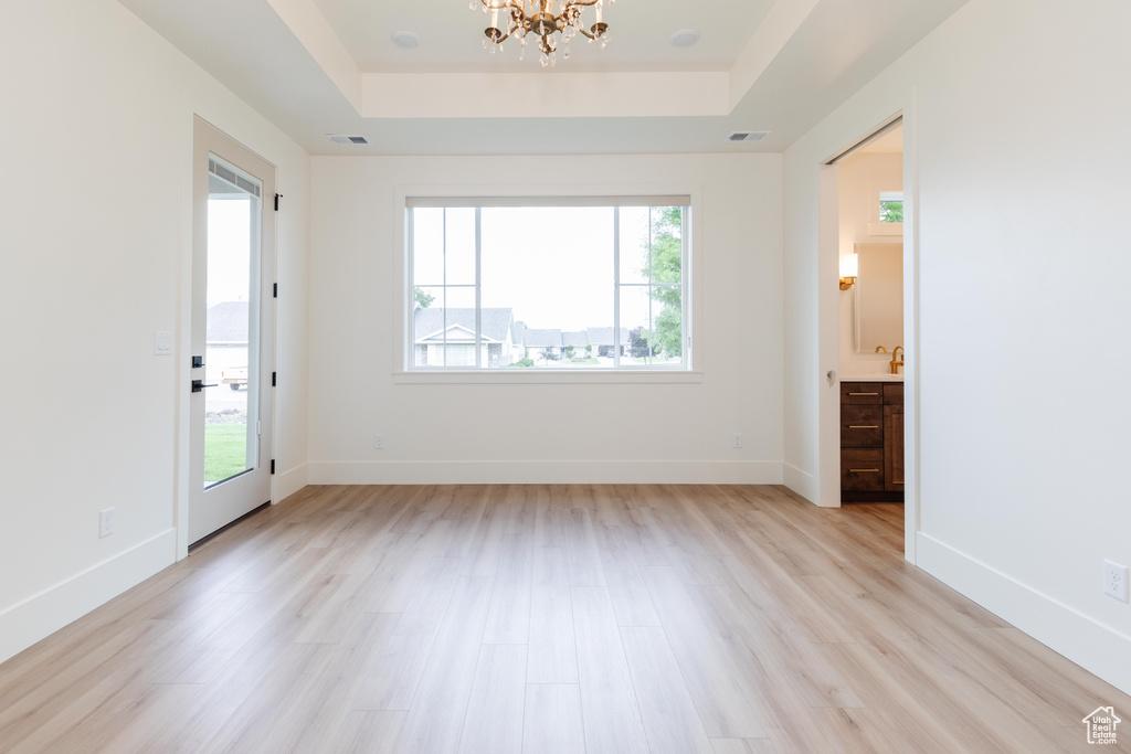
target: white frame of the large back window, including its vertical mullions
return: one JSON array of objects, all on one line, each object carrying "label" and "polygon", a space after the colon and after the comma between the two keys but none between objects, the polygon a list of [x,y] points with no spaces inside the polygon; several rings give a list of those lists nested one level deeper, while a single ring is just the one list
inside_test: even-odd
[{"label": "white frame of the large back window, including its vertical mullions", "polygon": [[[394,276],[392,301],[397,302],[396,323],[396,349],[395,363],[392,365],[392,380],[395,383],[604,383],[604,382],[701,382],[703,349],[702,338],[699,337],[697,304],[700,298],[698,289],[697,268],[701,258],[701,239],[699,224],[696,218],[699,216],[700,189],[697,184],[688,185],[644,185],[644,187],[619,187],[619,190],[610,191],[607,187],[596,188],[593,191],[579,191],[577,187],[568,187],[563,191],[561,187],[535,189],[530,187],[501,187],[498,193],[485,194],[482,187],[477,189],[459,190],[458,187],[420,187],[398,185],[396,189],[396,213],[400,222],[397,223],[398,243],[397,248],[402,253],[397,255],[397,275]],[[672,198],[682,198],[683,201],[672,202]],[[647,198],[647,202],[632,201]],[[451,201],[452,203],[442,203]],[[499,207],[499,206],[653,206],[653,207],[685,207],[683,213],[683,224],[681,229],[681,309],[682,309],[682,332],[683,347],[681,362],[676,364],[649,364],[649,365],[624,365],[620,363],[618,353],[616,365],[612,367],[538,367],[536,370],[503,370],[487,366],[425,366],[418,367],[415,364],[415,332],[412,317],[411,302],[415,294],[415,281],[413,280],[413,239],[412,239],[412,215],[411,203],[421,202],[424,207]],[[480,278],[481,265],[481,226],[478,224],[478,213],[476,213],[476,243],[475,243],[475,304],[476,304],[476,364],[482,358],[482,302]],[[614,245],[618,248],[613,262],[619,262],[620,228],[614,225]],[[614,336],[619,339],[620,331],[616,326],[619,321],[619,307],[622,285],[620,281],[620,266],[614,263]],[[425,286],[426,287],[426,286]],[[627,346],[628,344],[622,344]],[[619,349],[615,349],[619,352]]]}]

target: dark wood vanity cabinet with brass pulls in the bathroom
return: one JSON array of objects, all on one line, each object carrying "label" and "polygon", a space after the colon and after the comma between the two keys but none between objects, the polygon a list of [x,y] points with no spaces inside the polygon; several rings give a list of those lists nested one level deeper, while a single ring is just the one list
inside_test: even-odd
[{"label": "dark wood vanity cabinet with brass pulls in the bathroom", "polygon": [[841,502],[903,502],[904,384],[840,383]]}]

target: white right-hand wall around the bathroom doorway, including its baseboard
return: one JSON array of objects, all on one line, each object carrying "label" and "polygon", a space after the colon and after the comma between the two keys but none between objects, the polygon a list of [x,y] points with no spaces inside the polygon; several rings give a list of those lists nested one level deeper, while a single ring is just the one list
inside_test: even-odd
[{"label": "white right-hand wall around the bathroom doorway, including its baseboard", "polygon": [[901,110],[914,557],[1131,692],[1131,605],[1100,583],[1104,557],[1131,564],[1129,36],[1122,1],[972,0],[791,147],[785,452],[817,476],[835,406],[819,165]]}]

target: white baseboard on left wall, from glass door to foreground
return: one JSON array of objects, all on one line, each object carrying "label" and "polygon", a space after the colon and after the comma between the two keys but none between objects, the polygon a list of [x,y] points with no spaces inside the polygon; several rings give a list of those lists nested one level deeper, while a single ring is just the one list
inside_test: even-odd
[{"label": "white baseboard on left wall, from glass door to foreground", "polygon": [[76,573],[0,612],[0,662],[50,636],[176,561],[176,529]]}]

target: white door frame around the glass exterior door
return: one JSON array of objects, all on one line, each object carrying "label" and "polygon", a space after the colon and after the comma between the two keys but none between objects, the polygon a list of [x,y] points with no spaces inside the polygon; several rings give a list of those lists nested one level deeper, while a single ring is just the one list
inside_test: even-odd
[{"label": "white door frame around the glass exterior door", "polygon": [[[192,416],[191,416],[191,395],[190,389],[193,380],[193,370],[191,369],[191,356],[192,356],[192,292],[193,292],[193,243],[198,235],[196,228],[195,219],[195,192],[193,192],[193,181],[196,180],[196,167],[197,167],[197,144],[195,138],[195,131],[198,123],[207,125],[217,132],[219,132],[225,138],[233,141],[235,145],[242,149],[251,153],[254,157],[264,161],[270,165],[271,170],[275,172],[275,188],[274,192],[276,196],[279,194],[279,187],[282,181],[282,171],[278,166],[277,161],[270,159],[265,156],[264,150],[257,149],[254,147],[254,139],[242,138],[242,135],[238,130],[228,130],[216,125],[217,122],[222,122],[219,118],[208,118],[206,114],[199,113],[195,110],[185,109],[183,111],[182,120],[182,145],[183,145],[183,168],[182,168],[182,180],[181,184],[181,235],[180,235],[180,269],[179,278],[180,285],[178,287],[178,327],[176,327],[176,347],[174,353],[176,354],[176,379],[175,379],[175,418],[173,421],[174,427],[174,491],[173,491],[173,526],[176,529],[176,552],[174,553],[175,560],[180,561],[188,556],[189,545],[189,509],[190,501],[192,500],[191,494],[191,451],[192,451]],[[207,150],[206,150],[207,151]],[[260,249],[260,281],[261,289],[270,287],[270,284],[277,281],[277,269],[278,269],[278,215],[277,211],[273,213],[268,209],[268,202],[275,201],[275,196],[268,196],[267,191],[264,192],[264,210],[265,213],[270,213],[269,219],[271,233],[270,241],[264,239],[264,243]],[[204,228],[207,233],[207,228]],[[269,300],[269,301],[268,301]],[[270,373],[275,371],[275,364],[277,362],[277,300],[270,295],[264,295],[260,303],[260,329],[262,331],[269,331],[271,338],[271,349],[269,357],[261,359],[260,371],[262,375],[266,375],[269,380]],[[269,382],[268,382],[269,384]],[[268,458],[274,457],[274,449],[277,447],[277,426],[278,423],[275,421],[277,413],[276,405],[276,391],[274,389],[265,389],[266,395],[261,399],[261,411],[270,414],[271,421],[266,423],[264,431],[260,434],[260,445],[261,448],[270,449]],[[267,463],[270,460],[266,461]],[[270,502],[271,504],[277,502],[277,477],[270,476]]]}]

